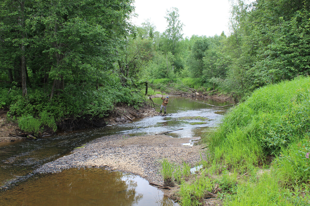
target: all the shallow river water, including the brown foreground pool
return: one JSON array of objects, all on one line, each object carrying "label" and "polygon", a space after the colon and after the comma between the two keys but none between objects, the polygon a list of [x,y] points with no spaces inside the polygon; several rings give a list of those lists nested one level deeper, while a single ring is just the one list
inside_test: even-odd
[{"label": "all the shallow river water, including the brown foreground pool", "polygon": [[[153,101],[162,102],[160,98],[153,98]],[[212,100],[205,103],[225,104]],[[169,133],[169,136],[188,138],[188,144],[192,145],[191,140],[214,128],[227,110],[227,107],[210,107],[179,96],[171,96],[168,105],[168,116],[137,118],[122,125],[60,132],[36,141],[2,143],[0,205],[178,205],[164,197],[162,191],[148,185],[146,180],[122,172],[89,168],[64,170],[58,174],[31,174],[44,163],[69,154],[75,147],[112,134],[133,136],[183,128]],[[184,119],[190,116],[207,119]]]}]

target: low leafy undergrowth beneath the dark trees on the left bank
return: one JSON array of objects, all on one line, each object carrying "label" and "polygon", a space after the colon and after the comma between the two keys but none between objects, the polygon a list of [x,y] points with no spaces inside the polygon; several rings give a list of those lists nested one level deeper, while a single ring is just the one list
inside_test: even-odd
[{"label": "low leafy undergrowth beneath the dark trees on the left bank", "polygon": [[99,87],[96,90],[67,85],[52,100],[42,88],[28,89],[28,96],[24,98],[21,88],[14,86],[0,88],[0,108],[9,107],[8,118],[17,121],[25,132],[38,134],[53,132],[68,119],[70,123],[79,119],[94,124],[95,120],[103,120],[117,103],[137,107],[143,97],[142,90],[128,87]]}]

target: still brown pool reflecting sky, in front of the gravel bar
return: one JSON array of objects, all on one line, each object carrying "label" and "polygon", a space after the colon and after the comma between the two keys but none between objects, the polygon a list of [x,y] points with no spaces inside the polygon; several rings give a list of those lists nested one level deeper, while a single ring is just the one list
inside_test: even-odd
[{"label": "still brown pool reflecting sky, in front of the gravel bar", "polygon": [[0,205],[10,206],[179,205],[138,176],[94,168],[32,177],[0,196]]}]

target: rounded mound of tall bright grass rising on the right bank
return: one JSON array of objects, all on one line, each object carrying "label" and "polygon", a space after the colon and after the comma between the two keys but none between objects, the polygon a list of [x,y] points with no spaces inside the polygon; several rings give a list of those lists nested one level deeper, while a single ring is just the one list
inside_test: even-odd
[{"label": "rounded mound of tall bright grass rising on the right bank", "polygon": [[211,160],[248,170],[299,141],[310,128],[310,78],[269,85],[232,108],[209,134]]}]

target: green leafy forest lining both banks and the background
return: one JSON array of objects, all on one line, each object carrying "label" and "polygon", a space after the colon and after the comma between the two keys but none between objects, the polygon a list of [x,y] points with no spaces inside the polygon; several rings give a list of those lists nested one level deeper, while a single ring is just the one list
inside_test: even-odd
[{"label": "green leafy forest lining both banks and the background", "polygon": [[146,86],[242,100],[309,74],[309,1],[238,0],[230,34],[185,38],[177,8],[167,10],[160,33],[150,21],[130,23],[133,3],[3,0],[0,108],[29,132],[55,130],[66,119],[100,126],[118,103],[139,107]]}]

